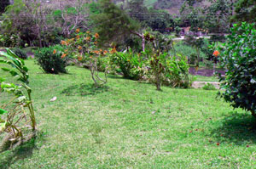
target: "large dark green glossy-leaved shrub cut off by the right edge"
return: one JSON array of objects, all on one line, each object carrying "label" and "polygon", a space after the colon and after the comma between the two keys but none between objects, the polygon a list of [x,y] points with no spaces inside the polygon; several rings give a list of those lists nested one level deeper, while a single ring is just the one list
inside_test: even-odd
[{"label": "large dark green glossy-leaved shrub cut off by the right edge", "polygon": [[256,117],[256,30],[254,24],[242,23],[231,28],[220,57],[227,68],[225,79],[221,78],[220,95],[234,108],[249,110]]}]

